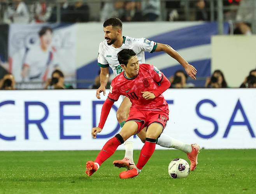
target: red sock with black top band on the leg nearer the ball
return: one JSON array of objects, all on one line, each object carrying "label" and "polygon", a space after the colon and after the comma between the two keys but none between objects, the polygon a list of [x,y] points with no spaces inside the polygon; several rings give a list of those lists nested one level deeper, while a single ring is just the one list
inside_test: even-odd
[{"label": "red sock with black top band on the leg nearer the ball", "polygon": [[137,163],[137,168],[140,170],[146,165],[149,158],[152,156],[156,149],[156,139],[146,138],[146,142],[140,151],[140,158]]}]

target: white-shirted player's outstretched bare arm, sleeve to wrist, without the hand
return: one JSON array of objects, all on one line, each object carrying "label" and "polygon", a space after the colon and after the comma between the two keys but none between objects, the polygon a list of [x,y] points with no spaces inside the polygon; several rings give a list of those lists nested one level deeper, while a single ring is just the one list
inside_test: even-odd
[{"label": "white-shirted player's outstretched bare arm, sleeve to wrist, without the hand", "polygon": [[183,59],[183,57],[176,50],[174,50],[170,45],[157,43],[157,47],[155,51],[156,52],[163,51],[167,53],[172,58],[176,59],[176,61],[178,61],[183,66],[183,68],[186,68],[189,65],[189,63],[185,59]]}]

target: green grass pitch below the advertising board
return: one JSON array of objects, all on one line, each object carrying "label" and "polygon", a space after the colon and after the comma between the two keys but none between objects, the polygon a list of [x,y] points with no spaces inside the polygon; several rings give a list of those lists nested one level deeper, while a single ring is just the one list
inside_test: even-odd
[{"label": "green grass pitch below the advertising board", "polygon": [[[202,150],[198,167],[184,179],[172,179],[168,164],[187,159],[177,150],[156,150],[138,177],[120,180],[112,165],[116,153],[91,177],[85,163],[99,151],[0,152],[0,193],[256,193],[256,149]],[[138,160],[140,151],[134,151]]]}]

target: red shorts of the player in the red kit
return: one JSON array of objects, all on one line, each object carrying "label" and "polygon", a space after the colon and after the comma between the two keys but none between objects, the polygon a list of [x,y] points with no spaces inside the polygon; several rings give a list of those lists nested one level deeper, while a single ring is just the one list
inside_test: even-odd
[{"label": "red shorts of the player in the red kit", "polygon": [[140,130],[149,126],[151,123],[160,123],[164,129],[168,120],[168,114],[161,110],[141,111],[136,108],[131,108],[126,121],[135,121],[138,124],[137,133],[139,133]]}]

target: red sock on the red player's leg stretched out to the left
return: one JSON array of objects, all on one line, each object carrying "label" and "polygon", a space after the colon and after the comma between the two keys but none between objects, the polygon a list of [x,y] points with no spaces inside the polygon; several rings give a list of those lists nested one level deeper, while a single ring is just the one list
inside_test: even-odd
[{"label": "red sock on the red player's leg stretched out to the left", "polygon": [[110,140],[108,140],[94,162],[101,165],[106,159],[108,159],[110,156],[114,154],[119,145],[121,145],[121,143],[119,142],[119,140],[117,140],[116,137],[113,137]]}]

